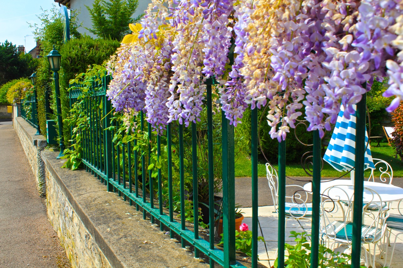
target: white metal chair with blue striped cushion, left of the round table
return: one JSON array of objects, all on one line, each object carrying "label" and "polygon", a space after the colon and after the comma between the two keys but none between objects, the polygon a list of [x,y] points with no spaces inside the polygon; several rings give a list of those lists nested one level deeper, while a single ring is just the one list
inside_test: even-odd
[{"label": "white metal chair with blue striped cushion, left of the round table", "polygon": [[[278,175],[276,169],[266,163],[266,176],[269,183],[270,192],[273,198],[274,208],[278,214]],[[285,216],[287,219],[310,219],[312,220],[312,203],[308,203],[308,194],[299,185],[286,185],[287,188],[295,188],[293,196],[285,196]],[[289,200],[289,202],[287,202]]]}]

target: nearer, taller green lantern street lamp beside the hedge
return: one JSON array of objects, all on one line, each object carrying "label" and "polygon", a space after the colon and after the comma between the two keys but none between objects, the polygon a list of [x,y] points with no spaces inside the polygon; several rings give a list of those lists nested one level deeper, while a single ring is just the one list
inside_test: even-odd
[{"label": "nearer, taller green lantern street lamp beside the hedge", "polygon": [[62,121],[62,107],[60,105],[60,88],[59,88],[59,73],[60,70],[60,58],[62,55],[54,48],[51,52],[49,52],[48,56],[50,70],[53,71],[53,79],[54,79],[54,89],[56,93],[56,108],[57,108],[57,122],[59,125],[59,145],[60,145],[60,154],[56,159],[60,159],[60,157],[64,156],[64,140],[63,140],[63,121]]}]

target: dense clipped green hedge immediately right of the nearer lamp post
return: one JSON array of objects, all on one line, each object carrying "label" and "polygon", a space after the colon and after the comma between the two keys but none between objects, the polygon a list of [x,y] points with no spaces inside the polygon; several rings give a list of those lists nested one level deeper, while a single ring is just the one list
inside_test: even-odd
[{"label": "dense clipped green hedge immediately right of the nearer lamp post", "polygon": [[[78,39],[71,39],[62,45],[59,52],[62,55],[60,75],[60,101],[62,105],[62,118],[69,114],[69,81],[74,79],[76,74],[85,72],[93,64],[102,64],[114,54],[120,46],[118,41],[105,39],[92,39],[83,36]],[[53,109],[56,111],[56,101],[53,102]],[[64,142],[69,145],[70,127],[63,124]]]}]

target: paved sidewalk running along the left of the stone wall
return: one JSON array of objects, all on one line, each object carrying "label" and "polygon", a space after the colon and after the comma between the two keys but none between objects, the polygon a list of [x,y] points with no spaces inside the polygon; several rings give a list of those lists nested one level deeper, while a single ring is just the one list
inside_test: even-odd
[{"label": "paved sidewalk running along the left of the stone wall", "polygon": [[0,122],[0,268],[71,267],[11,122]]}]

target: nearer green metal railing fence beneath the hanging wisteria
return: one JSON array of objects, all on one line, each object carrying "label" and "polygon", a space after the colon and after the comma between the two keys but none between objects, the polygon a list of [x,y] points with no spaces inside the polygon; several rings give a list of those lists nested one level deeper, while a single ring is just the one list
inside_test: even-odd
[{"label": "nearer green metal railing fence beneath the hanging wisteria", "polygon": [[[95,79],[94,79],[95,80]],[[162,199],[162,174],[161,169],[152,167],[147,170],[146,162],[150,159],[152,149],[150,143],[148,150],[137,146],[137,139],[134,140],[114,140],[118,122],[111,120],[111,103],[105,95],[109,76],[102,78],[102,82],[93,82],[89,94],[91,97],[81,105],[88,127],[83,129],[81,143],[83,146],[82,159],[85,169],[104,183],[108,191],[117,192],[131,205],[135,205],[137,210],[143,211],[143,218],[151,218],[152,223],[156,220],[160,224],[161,230],[170,230],[170,235],[174,233],[181,237],[181,244],[193,245],[195,257],[200,253],[210,258],[210,267],[214,263],[228,267],[243,267],[236,261],[235,255],[235,162],[234,162],[234,127],[229,124],[222,114],[222,219],[224,233],[224,247],[216,247],[214,241],[214,224],[208,227],[208,239],[200,236],[198,221],[194,225],[185,222],[185,217],[180,219],[172,209],[172,150],[179,148],[179,177],[180,177],[180,198],[181,211],[185,211],[185,189],[184,189],[184,150],[192,150],[193,168],[193,208],[197,214],[198,194],[197,194],[197,153],[196,153],[196,124],[191,124],[189,132],[192,135],[191,148],[184,148],[184,126],[177,123],[170,123],[166,131],[167,161],[168,161],[168,200]],[[70,91],[70,105],[73,105],[81,95],[81,89]],[[364,185],[364,150],[365,150],[365,96],[357,108],[357,156],[355,171],[355,195],[354,195],[354,223],[353,223],[353,252],[352,267],[358,268],[360,263],[361,250],[361,216],[362,216],[362,194]],[[206,105],[208,111],[208,178],[209,178],[209,207],[214,207],[214,169],[213,166],[213,128],[212,128],[212,83],[207,85]],[[151,131],[150,124],[144,121],[144,114],[137,115],[140,122],[141,132],[148,133],[149,140],[155,138],[156,134]],[[179,133],[178,144],[172,144],[172,131]],[[321,144],[318,130],[313,132],[313,177],[312,181],[312,254],[311,267],[318,267],[319,248],[319,228],[320,228],[320,170],[321,170]],[[161,156],[161,138],[157,140],[157,154]],[[164,137],[165,139],[165,137]],[[285,146],[286,141],[280,142],[278,148],[278,195],[279,195],[279,219],[278,219],[278,267],[284,267],[284,244],[285,244]],[[256,268],[258,265],[258,115],[257,110],[251,111],[251,160],[252,160],[252,256],[251,265]],[[148,171],[148,173],[147,173]],[[157,198],[154,196],[154,177],[152,172],[157,171],[158,191]],[[141,178],[139,176],[141,173]],[[140,186],[141,185],[141,186]],[[269,194],[269,193],[267,193]],[[214,210],[210,209],[209,222],[214,223],[216,216]]]}]

